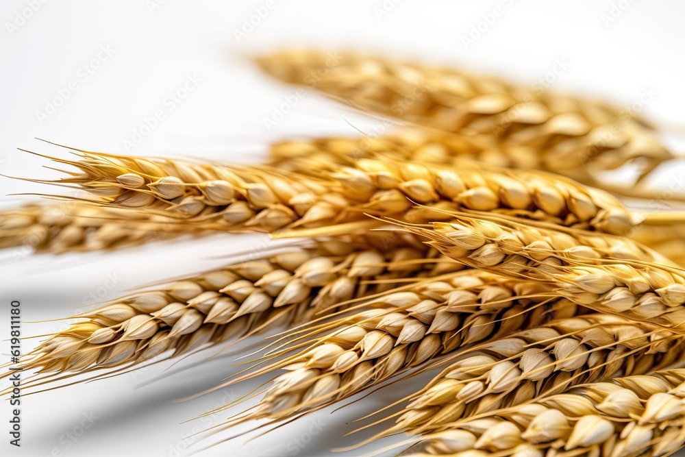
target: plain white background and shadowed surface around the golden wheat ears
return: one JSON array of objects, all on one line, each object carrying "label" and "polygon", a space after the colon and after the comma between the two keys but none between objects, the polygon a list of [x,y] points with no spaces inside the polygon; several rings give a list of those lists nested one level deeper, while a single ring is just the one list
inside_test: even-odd
[{"label": "plain white background and shadowed surface around the golden wheat ears", "polygon": [[[553,89],[598,95],[630,106],[645,88],[657,95],[644,107],[649,119],[669,125],[669,144],[682,150],[685,102],[682,59],[685,3],[678,1],[586,0],[521,1],[278,1],[253,30],[236,39],[235,31],[266,1],[46,1],[36,12],[31,1],[5,0],[0,9],[0,173],[55,177],[42,169],[49,161],[17,151],[66,154],[34,138],[82,149],[126,153],[125,140],[146,116],[164,110],[165,118],[130,153],[195,156],[227,162],[258,162],[275,138],[314,136],[324,132],[354,135],[377,125],[371,119],[308,92],[271,131],[264,118],[294,89],[254,69],[247,57],[290,45],[329,51],[375,51],[423,62],[449,64],[495,73],[525,85],[552,71],[558,60],[569,64],[554,78]],[[38,3],[38,2],[36,2]],[[385,5],[385,9],[384,9]],[[614,21],[612,18],[614,5]],[[158,6],[156,8],[155,6]],[[503,14],[468,47],[462,38],[501,8]],[[35,8],[35,7],[34,7]],[[382,14],[387,13],[387,14]],[[22,21],[19,16],[30,16]],[[606,15],[606,16],[603,16]],[[603,18],[604,17],[604,18]],[[16,25],[16,28],[12,25]],[[82,67],[98,58],[101,47],[111,55],[90,64],[99,68],[83,77]],[[164,100],[188,75],[201,79],[197,88],[168,110]],[[47,119],[46,103],[70,82],[77,90]],[[73,87],[73,85],[72,85]],[[680,163],[670,167],[678,176]],[[662,174],[662,176],[666,176]],[[666,186],[668,179],[659,179]],[[55,193],[60,189],[2,178],[0,193]],[[16,206],[37,197],[3,197],[1,206]],[[10,301],[22,302],[26,321],[57,319],[67,308],[84,306],[84,295],[97,291],[108,275],[120,278],[103,298],[127,288],[218,266],[223,255],[245,251],[259,237],[213,236],[203,240],[155,243],[116,254],[27,256],[22,249],[0,253],[0,337],[8,336]],[[102,289],[100,289],[102,290]],[[85,300],[86,302],[88,299]],[[24,323],[24,334],[60,328],[60,322]],[[5,354],[9,343],[3,341]],[[27,352],[36,340],[24,343]],[[4,356],[3,356],[4,357]],[[192,402],[172,403],[216,385],[236,371],[224,359],[136,388],[162,369],[62,388],[23,399],[21,449],[8,445],[10,406],[0,406],[0,453],[3,456],[174,456],[194,423],[182,423],[221,402],[225,393]],[[4,362],[4,360],[3,360]],[[414,388],[421,384],[414,382]],[[6,382],[3,382],[6,386]],[[243,394],[250,386],[238,385]],[[329,410],[301,419],[245,447],[241,437],[201,456],[226,454],[270,456],[328,455],[332,447],[355,443],[367,435],[344,439],[353,425],[345,422],[397,399],[397,390],[373,395],[351,408]],[[74,430],[84,413],[98,419],[69,448],[60,437]],[[323,424],[310,443],[312,424]],[[316,429],[316,428],[314,428]],[[312,429],[312,430],[314,430]],[[238,431],[247,430],[240,428]],[[197,441],[197,440],[196,440]],[[386,445],[382,441],[377,445]],[[373,448],[373,447],[371,447]],[[364,448],[368,452],[370,447]],[[345,455],[359,455],[361,451]],[[387,455],[394,455],[393,453]]]}]

